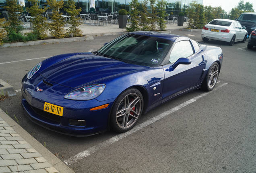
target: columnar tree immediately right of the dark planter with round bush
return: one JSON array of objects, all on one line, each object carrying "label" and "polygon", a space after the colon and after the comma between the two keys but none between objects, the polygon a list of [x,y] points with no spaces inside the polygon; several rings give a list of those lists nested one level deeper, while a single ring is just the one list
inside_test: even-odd
[{"label": "columnar tree immediately right of the dark planter with round bush", "polygon": [[131,24],[129,24],[129,26],[126,27],[126,30],[128,32],[140,30],[139,25],[138,25],[138,22],[139,22],[138,6],[139,6],[138,0],[132,0],[130,2],[130,7],[131,7],[130,22],[131,22]]}]

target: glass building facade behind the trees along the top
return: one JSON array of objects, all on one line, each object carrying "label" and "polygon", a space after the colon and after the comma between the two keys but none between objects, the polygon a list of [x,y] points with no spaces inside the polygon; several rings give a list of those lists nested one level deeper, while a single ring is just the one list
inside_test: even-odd
[{"label": "glass building facade behind the trees along the top", "polygon": [[[64,0],[64,4],[67,0]],[[81,7],[82,12],[90,12],[90,0],[75,0],[76,6]],[[130,11],[129,3],[131,0],[95,0],[95,12],[118,12],[120,9],[126,9]],[[189,4],[192,2],[197,2],[202,4],[203,0],[167,0],[166,12],[178,15],[180,11],[185,11],[188,8]],[[140,7],[142,0],[139,0]],[[46,0],[40,0],[40,7],[47,6]],[[0,11],[4,10],[3,7],[6,6],[6,0],[0,0]],[[29,7],[30,3],[28,0],[25,0],[25,6]],[[148,7],[150,10],[150,7]],[[91,9],[92,10],[92,9]],[[140,10],[140,9],[139,9]]]}]

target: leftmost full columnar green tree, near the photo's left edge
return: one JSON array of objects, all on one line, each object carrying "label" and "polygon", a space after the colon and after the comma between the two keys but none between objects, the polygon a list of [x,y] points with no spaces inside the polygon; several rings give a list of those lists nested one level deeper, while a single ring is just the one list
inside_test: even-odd
[{"label": "leftmost full columnar green tree, near the photo's left edge", "polygon": [[23,7],[17,4],[16,0],[6,0],[4,7],[9,13],[7,25],[11,30],[18,33],[21,30],[21,21],[19,21],[20,14],[23,12]]}]

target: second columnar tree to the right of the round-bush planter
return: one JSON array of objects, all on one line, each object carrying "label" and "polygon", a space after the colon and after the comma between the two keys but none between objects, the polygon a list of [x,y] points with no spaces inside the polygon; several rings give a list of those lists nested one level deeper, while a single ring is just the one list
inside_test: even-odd
[{"label": "second columnar tree to the right of the round-bush planter", "polygon": [[149,0],[143,0],[142,2],[142,12],[140,13],[140,29],[143,31],[149,30],[149,12],[147,11],[147,5]]}]

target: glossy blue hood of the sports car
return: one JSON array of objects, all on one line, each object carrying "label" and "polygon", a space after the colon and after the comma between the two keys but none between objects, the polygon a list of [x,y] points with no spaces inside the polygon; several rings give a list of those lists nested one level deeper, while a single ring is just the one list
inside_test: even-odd
[{"label": "glossy blue hood of the sports car", "polygon": [[149,67],[127,64],[104,56],[77,54],[53,64],[40,74],[51,82],[78,88],[86,84],[97,83],[103,78],[147,68]]}]

